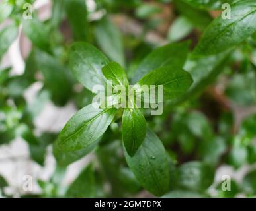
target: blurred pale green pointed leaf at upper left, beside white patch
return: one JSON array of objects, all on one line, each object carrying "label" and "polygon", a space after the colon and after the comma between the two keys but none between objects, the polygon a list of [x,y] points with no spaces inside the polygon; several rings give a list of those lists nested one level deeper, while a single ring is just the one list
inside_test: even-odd
[{"label": "blurred pale green pointed leaf at upper left, beside white patch", "polygon": [[48,53],[51,52],[50,31],[43,22],[35,17],[28,20],[22,19],[22,30],[36,47]]}]

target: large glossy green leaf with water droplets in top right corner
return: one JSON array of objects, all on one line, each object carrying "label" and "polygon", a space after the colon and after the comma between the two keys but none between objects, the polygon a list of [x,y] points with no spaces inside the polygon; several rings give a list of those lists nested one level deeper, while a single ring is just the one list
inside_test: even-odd
[{"label": "large glossy green leaf with water droplets in top right corner", "polygon": [[231,19],[216,18],[204,31],[194,55],[212,55],[234,47],[256,30],[255,1],[238,1],[231,7]]}]

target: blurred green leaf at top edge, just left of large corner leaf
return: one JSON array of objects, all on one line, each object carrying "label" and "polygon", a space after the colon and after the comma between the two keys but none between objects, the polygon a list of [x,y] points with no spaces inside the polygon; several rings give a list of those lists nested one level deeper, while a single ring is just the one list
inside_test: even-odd
[{"label": "blurred green leaf at top edge, just left of large corner leaf", "polygon": [[173,3],[181,15],[185,16],[200,30],[204,30],[204,28],[206,28],[210,22],[212,22],[212,17],[207,11],[202,11],[200,9],[191,7],[191,5],[188,5],[182,0],[174,0]]}]

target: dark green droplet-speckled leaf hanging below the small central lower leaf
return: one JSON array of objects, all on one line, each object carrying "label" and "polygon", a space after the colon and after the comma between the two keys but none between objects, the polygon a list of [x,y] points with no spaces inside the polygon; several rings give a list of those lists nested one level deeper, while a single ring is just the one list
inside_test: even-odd
[{"label": "dark green droplet-speckled leaf hanging below the small central lower leaf", "polygon": [[161,140],[147,130],[142,146],[133,157],[130,157],[125,148],[124,155],[130,169],[140,185],[155,196],[162,196],[169,190],[169,164],[165,148]]}]

